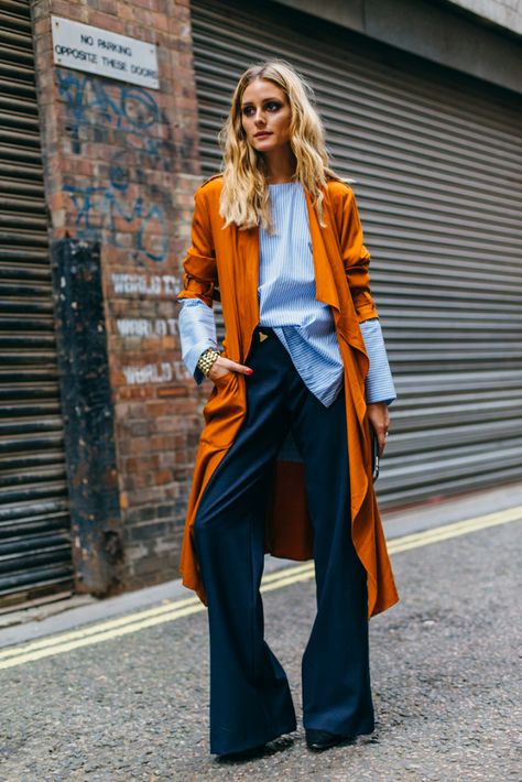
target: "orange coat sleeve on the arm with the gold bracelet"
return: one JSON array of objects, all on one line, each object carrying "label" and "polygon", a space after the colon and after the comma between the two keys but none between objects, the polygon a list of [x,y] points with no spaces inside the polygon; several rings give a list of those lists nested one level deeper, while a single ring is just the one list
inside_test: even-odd
[{"label": "orange coat sleeve on the arm with the gold bracelet", "polygon": [[202,188],[196,191],[194,200],[192,246],[183,263],[183,289],[177,298],[200,298],[211,307],[219,298],[218,274],[210,214]]}]

